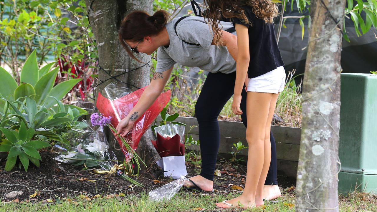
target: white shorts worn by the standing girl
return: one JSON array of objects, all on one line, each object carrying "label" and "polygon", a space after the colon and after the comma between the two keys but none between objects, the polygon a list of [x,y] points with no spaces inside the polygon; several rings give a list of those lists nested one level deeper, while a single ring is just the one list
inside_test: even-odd
[{"label": "white shorts worn by the standing girl", "polygon": [[284,90],[285,70],[279,66],[264,75],[250,78],[247,91],[277,94]]}]

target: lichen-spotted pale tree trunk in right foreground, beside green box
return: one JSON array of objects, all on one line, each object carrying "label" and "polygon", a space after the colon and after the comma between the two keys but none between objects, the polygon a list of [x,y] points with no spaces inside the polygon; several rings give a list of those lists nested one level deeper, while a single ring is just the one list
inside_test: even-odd
[{"label": "lichen-spotted pale tree trunk in right foreground, beside green box", "polygon": [[311,3],[296,210],[339,211],[340,53],[345,0]]}]

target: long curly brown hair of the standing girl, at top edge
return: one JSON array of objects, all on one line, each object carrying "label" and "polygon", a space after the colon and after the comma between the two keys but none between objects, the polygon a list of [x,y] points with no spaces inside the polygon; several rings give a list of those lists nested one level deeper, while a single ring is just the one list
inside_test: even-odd
[{"label": "long curly brown hair of the standing girl, at top edge", "polygon": [[274,18],[279,14],[277,4],[272,0],[204,0],[204,5],[208,7],[205,18],[208,18],[208,25],[211,26],[215,33],[215,43],[220,43],[221,29],[218,24],[221,16],[224,18],[243,19],[246,24],[250,24],[242,6],[251,6],[253,12],[258,18],[262,18],[265,23],[273,23]]}]

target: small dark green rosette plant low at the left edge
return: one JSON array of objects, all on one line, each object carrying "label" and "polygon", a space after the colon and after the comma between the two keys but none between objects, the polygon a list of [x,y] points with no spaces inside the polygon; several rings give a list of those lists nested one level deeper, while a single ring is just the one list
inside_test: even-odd
[{"label": "small dark green rosette plant low at the left edge", "polygon": [[21,164],[25,171],[28,171],[29,160],[39,167],[39,161],[42,160],[38,149],[50,146],[49,143],[31,140],[34,135],[34,129],[28,128],[24,121],[21,121],[20,128],[17,131],[6,128],[0,128],[6,139],[0,143],[0,152],[9,152],[6,158],[5,171],[11,171],[16,164],[17,157],[20,158]]}]

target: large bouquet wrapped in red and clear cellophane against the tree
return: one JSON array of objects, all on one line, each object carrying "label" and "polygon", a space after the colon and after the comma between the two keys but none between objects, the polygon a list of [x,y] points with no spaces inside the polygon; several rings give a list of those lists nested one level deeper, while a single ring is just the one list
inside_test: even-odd
[{"label": "large bouquet wrapped in red and clear cellophane against the tree", "polygon": [[[111,116],[111,124],[116,128],[120,120],[125,118],[136,105],[146,87],[131,92],[128,88],[123,88],[110,83],[104,89],[103,94],[98,93],[97,109],[106,117]],[[164,109],[170,100],[170,90],[162,93],[150,108],[136,120],[132,130],[126,135],[125,140],[133,150],[138,147],[141,136],[146,132],[159,113]],[[113,131],[113,129],[112,129]],[[120,137],[116,137],[122,148],[126,161],[132,158],[132,154],[127,151],[125,144]]]}]

